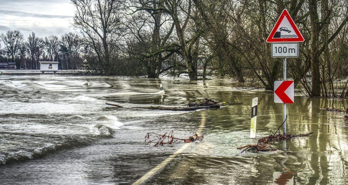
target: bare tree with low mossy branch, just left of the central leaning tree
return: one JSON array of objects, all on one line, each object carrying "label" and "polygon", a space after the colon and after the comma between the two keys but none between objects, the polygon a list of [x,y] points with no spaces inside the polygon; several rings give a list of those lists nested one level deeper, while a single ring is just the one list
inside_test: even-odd
[{"label": "bare tree with low mossy branch, just left of the central leaning tree", "polygon": [[[161,3],[160,0],[154,2],[132,1],[129,7],[132,16],[128,18],[129,21],[126,25],[129,35],[135,35],[134,38],[137,39],[137,42],[145,44],[136,54],[141,55],[140,60],[146,66],[148,78],[158,78],[163,72],[161,70],[163,62],[178,51],[168,42],[174,29],[171,16],[163,14],[161,11],[153,12],[152,9],[148,9],[149,6],[156,9]],[[134,7],[135,11],[132,10]]]}]

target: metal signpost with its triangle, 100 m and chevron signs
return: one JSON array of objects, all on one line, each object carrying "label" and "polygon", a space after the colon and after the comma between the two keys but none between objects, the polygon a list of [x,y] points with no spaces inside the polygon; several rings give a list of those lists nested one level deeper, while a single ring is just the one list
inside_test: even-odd
[{"label": "metal signpost with its triangle, 100 m and chevron signs", "polygon": [[284,9],[266,41],[272,43],[272,57],[284,57],[283,81],[274,82],[274,102],[283,103],[283,134],[286,134],[286,103],[294,102],[294,82],[286,80],[286,58],[299,57],[299,43],[294,42],[303,42],[304,38]]}]

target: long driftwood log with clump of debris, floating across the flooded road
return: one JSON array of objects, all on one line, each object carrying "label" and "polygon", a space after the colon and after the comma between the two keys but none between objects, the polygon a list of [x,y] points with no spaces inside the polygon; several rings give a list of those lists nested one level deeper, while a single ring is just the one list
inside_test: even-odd
[{"label": "long driftwood log with clump of debris, floating across the flooded road", "polygon": [[222,106],[226,106],[228,102],[216,102],[211,99],[203,99],[203,100],[195,100],[190,102],[186,107],[176,107],[176,106],[164,106],[164,105],[149,105],[149,106],[121,106],[116,103],[105,103],[106,105],[112,105],[119,108],[137,108],[137,109],[156,109],[156,110],[176,110],[176,111],[192,111],[198,109],[212,109],[212,108],[220,108]]}]

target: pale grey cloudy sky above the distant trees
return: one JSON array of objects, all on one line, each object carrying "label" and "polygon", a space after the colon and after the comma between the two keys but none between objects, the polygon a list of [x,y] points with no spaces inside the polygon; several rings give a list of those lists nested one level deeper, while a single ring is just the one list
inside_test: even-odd
[{"label": "pale grey cloudy sky above the distant trees", "polygon": [[0,33],[19,30],[26,39],[74,32],[74,6],[70,0],[0,0]]}]

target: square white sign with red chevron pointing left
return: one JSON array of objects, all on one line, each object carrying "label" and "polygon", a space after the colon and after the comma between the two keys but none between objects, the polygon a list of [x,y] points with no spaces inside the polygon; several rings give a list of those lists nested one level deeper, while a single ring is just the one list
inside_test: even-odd
[{"label": "square white sign with red chevron pointing left", "polygon": [[274,81],[274,102],[294,103],[294,81]]}]

